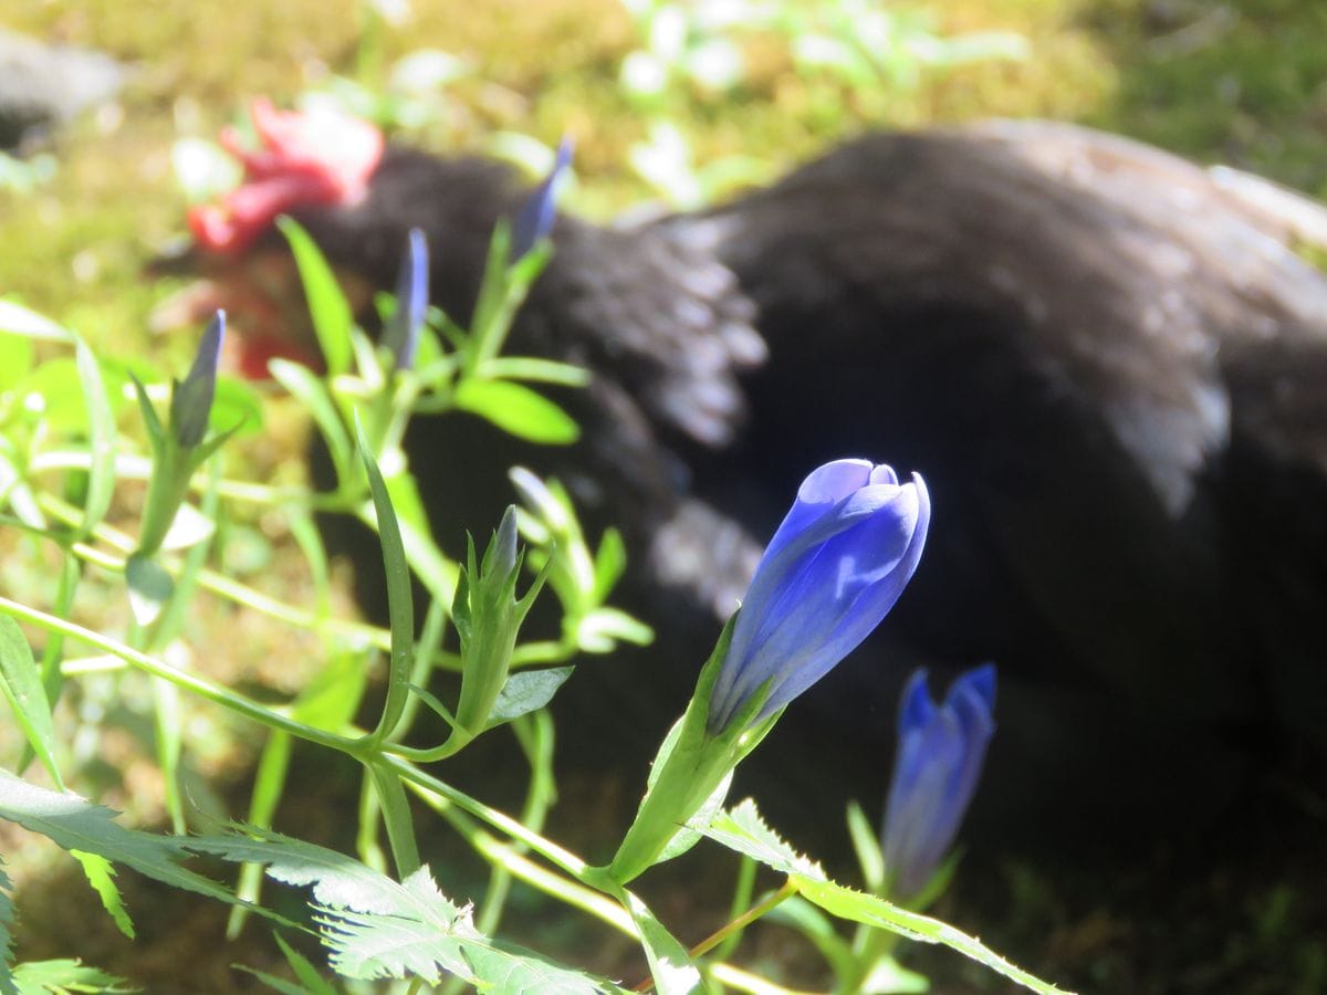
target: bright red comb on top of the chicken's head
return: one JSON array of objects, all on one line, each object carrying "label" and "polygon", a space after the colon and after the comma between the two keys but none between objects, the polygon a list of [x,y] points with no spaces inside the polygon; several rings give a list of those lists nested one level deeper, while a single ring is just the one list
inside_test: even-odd
[{"label": "bright red comb on top of the chicken's head", "polygon": [[368,121],[277,110],[261,97],[249,113],[257,149],[245,149],[234,127],[222,130],[222,145],[244,166],[244,182],[219,204],[188,212],[194,237],[212,252],[244,249],[292,207],[354,202],[382,161],[382,133]]}]

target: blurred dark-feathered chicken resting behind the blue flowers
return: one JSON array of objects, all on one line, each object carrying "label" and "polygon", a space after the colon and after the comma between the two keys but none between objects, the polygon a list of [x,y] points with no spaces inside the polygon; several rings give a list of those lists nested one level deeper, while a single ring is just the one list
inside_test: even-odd
[{"label": "blurred dark-feathered chicken resting behind the blue flowers", "polygon": [[[207,269],[252,288],[287,210],[390,288],[421,227],[437,302],[464,318],[525,195],[496,163],[393,146],[334,187],[272,198]],[[989,777],[1050,821],[1135,805],[1151,828],[1162,800],[1229,789],[1250,747],[1327,746],[1327,277],[1295,252],[1327,244],[1319,204],[993,122],[869,135],[702,214],[561,218],[553,241],[511,349],[593,371],[559,397],[583,442],[525,447],[459,417],[409,444],[443,537],[494,520],[516,462],[625,527],[629,594],[662,643],[645,677],[580,683],[602,714],[616,681],[613,714],[649,730],[634,759],[796,483],[841,455],[926,478],[929,547],[876,642],[791,710],[803,728],[771,739],[767,773],[824,781],[815,743],[859,795],[882,791],[917,662],[1001,665]]]}]

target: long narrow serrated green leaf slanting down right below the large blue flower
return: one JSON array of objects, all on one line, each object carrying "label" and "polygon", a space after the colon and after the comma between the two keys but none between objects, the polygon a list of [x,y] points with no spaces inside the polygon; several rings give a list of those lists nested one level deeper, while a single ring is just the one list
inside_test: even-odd
[{"label": "long narrow serrated green leaf slanting down right below the large blue flower", "polygon": [[943,943],[965,957],[990,967],[1042,995],[1063,995],[1060,988],[1015,967],[979,939],[928,915],[908,911],[877,896],[835,884],[815,864],[792,849],[766,825],[755,801],[747,799],[730,812],[719,815],[705,834],[738,853],[744,853],[768,868],[787,874],[798,884],[798,893],[831,915],[867,926],[885,929],[924,943]]}]

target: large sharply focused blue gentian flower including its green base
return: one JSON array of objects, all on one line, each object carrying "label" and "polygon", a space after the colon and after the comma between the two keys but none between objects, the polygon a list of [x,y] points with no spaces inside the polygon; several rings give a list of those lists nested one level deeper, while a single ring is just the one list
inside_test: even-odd
[{"label": "large sharply focused blue gentian flower including its green base", "polygon": [[608,877],[625,884],[698,837],[734,768],[783,706],[871,634],[917,569],[930,521],[920,476],[840,459],[815,470],[770,540],[747,597],[702,667],[686,712],[654,759],[650,785]]}]

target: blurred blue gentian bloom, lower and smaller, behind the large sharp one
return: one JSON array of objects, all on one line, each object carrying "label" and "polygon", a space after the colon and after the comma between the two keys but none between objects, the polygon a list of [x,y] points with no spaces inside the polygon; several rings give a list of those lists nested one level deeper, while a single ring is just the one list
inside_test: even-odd
[{"label": "blurred blue gentian bloom, lower and smaller, behind the large sharp one", "polygon": [[973,800],[995,731],[995,667],[961,674],[937,706],[918,670],[898,707],[898,752],[881,840],[890,890],[916,896],[940,866]]}]

